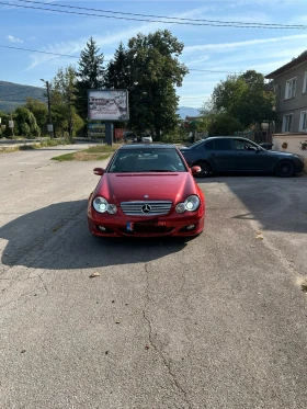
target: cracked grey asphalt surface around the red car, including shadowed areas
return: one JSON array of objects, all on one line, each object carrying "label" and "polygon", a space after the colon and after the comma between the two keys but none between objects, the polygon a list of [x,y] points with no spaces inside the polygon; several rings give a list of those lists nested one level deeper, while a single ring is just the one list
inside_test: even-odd
[{"label": "cracked grey asphalt surface around the red car, including shadowed areas", "polygon": [[198,180],[198,238],[100,240],[101,163],[49,160],[79,148],[0,155],[0,408],[306,409],[307,177]]}]

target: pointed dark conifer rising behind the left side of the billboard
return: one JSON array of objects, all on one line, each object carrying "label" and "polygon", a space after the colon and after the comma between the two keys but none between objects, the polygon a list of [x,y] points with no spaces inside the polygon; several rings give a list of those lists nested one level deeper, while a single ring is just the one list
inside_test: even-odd
[{"label": "pointed dark conifer rising behind the left side of the billboard", "polygon": [[81,52],[76,71],[76,109],[82,120],[88,117],[88,90],[100,89],[104,83],[103,54],[99,54],[96,43],[92,37]]}]

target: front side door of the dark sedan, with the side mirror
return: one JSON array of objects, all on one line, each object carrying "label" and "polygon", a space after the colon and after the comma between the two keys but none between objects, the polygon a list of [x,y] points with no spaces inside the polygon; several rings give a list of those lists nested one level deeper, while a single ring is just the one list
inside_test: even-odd
[{"label": "front side door of the dark sedan, with the side mirror", "polygon": [[266,150],[259,149],[252,141],[234,139],[239,171],[264,172],[270,170],[271,160]]}]

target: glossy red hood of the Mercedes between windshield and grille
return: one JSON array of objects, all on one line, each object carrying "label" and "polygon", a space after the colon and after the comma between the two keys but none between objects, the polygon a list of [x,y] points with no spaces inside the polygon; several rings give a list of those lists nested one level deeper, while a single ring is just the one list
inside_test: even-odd
[{"label": "glossy red hood of the Mercedes between windshield and grille", "polygon": [[190,172],[173,173],[105,173],[95,190],[110,203],[120,205],[129,201],[181,202],[197,194]]}]

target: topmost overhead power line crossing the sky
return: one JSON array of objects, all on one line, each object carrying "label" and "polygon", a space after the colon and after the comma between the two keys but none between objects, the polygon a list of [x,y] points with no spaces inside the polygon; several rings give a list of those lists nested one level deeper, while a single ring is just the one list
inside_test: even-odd
[{"label": "topmost overhead power line crossing the sky", "polygon": [[[41,1],[34,0],[16,0],[25,3],[34,3],[34,4],[42,4]],[[247,25],[259,25],[259,26],[278,26],[278,27],[297,27],[297,29],[307,29],[306,25],[303,24],[275,24],[275,23],[255,23],[255,22],[238,22],[238,21],[227,21],[224,22],[221,20],[207,20],[207,19],[187,19],[187,18],[172,18],[167,15],[156,15],[156,14],[140,14],[140,13],[128,13],[123,11],[112,11],[112,10],[102,10],[102,9],[91,9],[78,5],[64,5],[64,4],[56,4],[56,3],[47,3],[48,5],[58,7],[58,8],[66,8],[66,9],[73,9],[73,10],[87,10],[87,11],[98,11],[102,13],[112,13],[112,14],[121,14],[121,15],[136,15],[143,18],[154,18],[154,19],[167,19],[167,20],[174,20],[174,21],[186,21],[186,22],[206,22],[206,23],[229,23],[229,24],[247,24]]]}]

